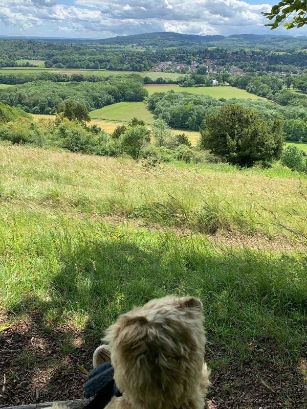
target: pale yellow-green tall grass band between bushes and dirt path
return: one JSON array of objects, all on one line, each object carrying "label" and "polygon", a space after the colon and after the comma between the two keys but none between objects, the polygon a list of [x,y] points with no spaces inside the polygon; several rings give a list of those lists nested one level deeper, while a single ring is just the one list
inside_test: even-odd
[{"label": "pale yellow-green tall grass band between bushes and dirt path", "polygon": [[18,146],[0,146],[0,153],[4,203],[137,218],[210,235],[274,238],[280,229],[272,215],[288,223],[307,190],[307,179],[283,168],[281,174],[279,168],[240,171],[225,164],[147,170],[129,160]]}]

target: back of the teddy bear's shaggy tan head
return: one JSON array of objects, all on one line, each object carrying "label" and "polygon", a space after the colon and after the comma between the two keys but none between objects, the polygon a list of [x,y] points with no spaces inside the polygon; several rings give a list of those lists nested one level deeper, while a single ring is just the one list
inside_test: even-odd
[{"label": "back of the teddy bear's shaggy tan head", "polygon": [[200,300],[151,300],[120,315],[104,339],[132,406],[178,407],[199,388],[206,343]]}]

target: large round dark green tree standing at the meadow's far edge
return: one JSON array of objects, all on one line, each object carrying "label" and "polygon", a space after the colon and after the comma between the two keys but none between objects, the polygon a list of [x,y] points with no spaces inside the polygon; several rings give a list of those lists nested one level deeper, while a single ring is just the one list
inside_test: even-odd
[{"label": "large round dark green tree standing at the meadow's far edge", "polygon": [[280,158],[283,133],[279,120],[266,121],[252,109],[225,105],[205,118],[200,145],[232,165],[251,167],[255,162]]}]

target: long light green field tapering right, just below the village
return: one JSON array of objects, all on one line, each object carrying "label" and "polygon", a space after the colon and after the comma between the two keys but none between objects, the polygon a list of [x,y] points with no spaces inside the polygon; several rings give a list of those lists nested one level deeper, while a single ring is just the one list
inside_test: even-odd
[{"label": "long light green field tapering right, just below the village", "polygon": [[266,99],[257,95],[248,93],[245,89],[235,88],[233,86],[199,86],[182,87],[179,85],[145,85],[148,93],[163,93],[170,90],[174,92],[186,92],[198,95],[209,95],[213,98],[244,98],[244,99]]}]

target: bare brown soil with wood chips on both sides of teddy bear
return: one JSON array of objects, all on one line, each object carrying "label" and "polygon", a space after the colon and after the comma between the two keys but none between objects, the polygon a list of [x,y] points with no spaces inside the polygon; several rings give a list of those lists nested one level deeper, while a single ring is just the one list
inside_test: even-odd
[{"label": "bare brown soil with wood chips on both sides of teddy bear", "polygon": [[[8,320],[2,313],[0,327]],[[48,326],[38,311],[0,332],[0,407],[82,398],[98,342],[84,343],[84,335],[72,326]],[[210,365],[226,353],[209,345],[206,360]],[[284,366],[274,345],[251,343],[249,360],[212,371],[209,409],[305,408],[306,358]]]}]

